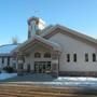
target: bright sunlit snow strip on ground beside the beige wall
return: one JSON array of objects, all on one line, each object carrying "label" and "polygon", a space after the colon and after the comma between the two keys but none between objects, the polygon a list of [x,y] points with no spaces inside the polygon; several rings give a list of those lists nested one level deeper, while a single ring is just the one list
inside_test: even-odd
[{"label": "bright sunlit snow strip on ground beside the beige wall", "polygon": [[97,87],[97,78],[88,77],[59,77],[52,82],[53,85],[60,86],[91,86]]}]

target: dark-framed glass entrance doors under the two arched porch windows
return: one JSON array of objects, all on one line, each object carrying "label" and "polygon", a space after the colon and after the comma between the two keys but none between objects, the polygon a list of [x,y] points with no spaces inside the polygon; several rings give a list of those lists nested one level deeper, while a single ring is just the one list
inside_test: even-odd
[{"label": "dark-framed glass entrance doors under the two arched porch windows", "polygon": [[51,61],[34,61],[36,73],[51,72]]}]

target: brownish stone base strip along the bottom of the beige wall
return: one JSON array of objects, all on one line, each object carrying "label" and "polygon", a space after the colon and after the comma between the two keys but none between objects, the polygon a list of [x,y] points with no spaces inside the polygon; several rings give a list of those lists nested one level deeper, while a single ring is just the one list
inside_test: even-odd
[{"label": "brownish stone base strip along the bottom of the beige wall", "polygon": [[59,71],[60,77],[97,77],[94,71]]}]

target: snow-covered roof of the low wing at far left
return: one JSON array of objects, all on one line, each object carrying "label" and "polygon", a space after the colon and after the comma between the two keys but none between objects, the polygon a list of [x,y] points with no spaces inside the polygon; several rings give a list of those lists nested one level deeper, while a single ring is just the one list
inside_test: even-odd
[{"label": "snow-covered roof of the low wing at far left", "polygon": [[18,44],[5,44],[0,46],[0,54],[10,54]]}]

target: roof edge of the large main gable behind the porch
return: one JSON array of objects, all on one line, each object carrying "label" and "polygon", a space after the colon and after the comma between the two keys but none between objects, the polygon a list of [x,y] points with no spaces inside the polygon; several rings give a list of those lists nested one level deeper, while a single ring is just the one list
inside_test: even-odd
[{"label": "roof edge of the large main gable behind the porch", "polygon": [[[47,31],[43,32],[43,33],[41,34],[41,37],[46,38],[47,36],[52,34],[52,32],[53,32],[54,30],[56,30],[56,29],[58,29],[58,28],[61,29],[61,30],[65,30],[65,31],[67,31],[67,32],[69,32],[69,33],[71,33],[71,34],[73,34],[73,36],[75,36],[75,37],[79,37],[79,38],[81,38],[81,39],[85,39],[85,40],[87,40],[87,41],[89,41],[89,42],[97,43],[97,40],[96,40],[96,39],[94,39],[94,38],[92,38],[92,37],[88,37],[88,36],[86,36],[86,34],[83,34],[83,33],[81,33],[81,32],[78,32],[78,31],[75,31],[75,30],[69,29],[69,28],[67,28],[67,27],[64,27],[64,26],[61,26],[61,25],[55,25],[55,26],[52,27],[50,30],[47,29]],[[51,37],[52,37],[52,36],[51,36]]]}]

